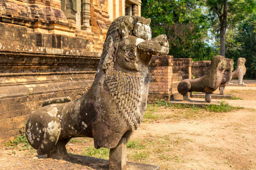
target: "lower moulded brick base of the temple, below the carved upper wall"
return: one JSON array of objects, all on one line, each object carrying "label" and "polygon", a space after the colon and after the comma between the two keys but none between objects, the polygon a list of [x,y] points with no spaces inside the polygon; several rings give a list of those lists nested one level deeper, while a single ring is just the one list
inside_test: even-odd
[{"label": "lower moulded brick base of the temple, below the carved upper wall", "polygon": [[35,33],[0,22],[0,145],[20,134],[43,100],[85,94],[92,85],[103,35]]}]

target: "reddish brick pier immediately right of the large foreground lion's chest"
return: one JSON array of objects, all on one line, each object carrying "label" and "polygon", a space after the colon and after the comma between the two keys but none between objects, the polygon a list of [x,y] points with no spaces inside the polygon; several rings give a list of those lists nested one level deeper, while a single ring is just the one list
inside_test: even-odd
[{"label": "reddish brick pier immediately right of the large foreground lion's chest", "polygon": [[150,87],[148,103],[157,100],[170,100],[172,93],[173,56],[153,56],[149,67]]}]

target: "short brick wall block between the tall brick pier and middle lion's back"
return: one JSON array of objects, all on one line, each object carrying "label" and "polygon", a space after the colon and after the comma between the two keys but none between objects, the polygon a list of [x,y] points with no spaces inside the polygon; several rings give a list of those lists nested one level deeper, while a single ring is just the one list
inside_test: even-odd
[{"label": "short brick wall block between the tall brick pier and middle lion's back", "polygon": [[174,59],[173,73],[178,73],[178,80],[191,79],[192,59]]}]

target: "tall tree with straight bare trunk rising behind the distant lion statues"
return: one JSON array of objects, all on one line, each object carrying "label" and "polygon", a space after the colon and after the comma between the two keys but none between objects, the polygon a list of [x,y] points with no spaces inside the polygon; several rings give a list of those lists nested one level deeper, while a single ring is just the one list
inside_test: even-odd
[{"label": "tall tree with straight bare trunk rising behind the distant lion statues", "polygon": [[[255,0],[206,0],[211,20],[219,19],[220,55],[225,56],[225,34],[228,25],[236,25],[255,9]],[[213,15],[213,12],[215,15]],[[231,27],[232,30],[232,27]]]}]

